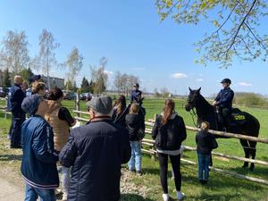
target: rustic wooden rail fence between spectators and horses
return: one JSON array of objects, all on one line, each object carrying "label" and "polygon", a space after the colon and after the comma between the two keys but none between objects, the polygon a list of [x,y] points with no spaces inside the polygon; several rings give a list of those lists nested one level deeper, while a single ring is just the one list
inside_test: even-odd
[{"label": "rustic wooden rail fence between spectators and horses", "polygon": [[[74,110],[73,113],[79,114],[79,115],[74,117],[76,120],[84,121],[84,122],[88,121],[88,119],[80,117],[80,114],[87,114],[88,115],[88,112],[81,112],[79,110]],[[148,121],[146,121],[146,125],[149,126],[149,127],[153,127],[154,126],[154,121],[155,120],[148,120]],[[190,126],[186,126],[186,129],[191,130],[191,131],[198,131],[199,130],[197,128],[190,127]],[[255,138],[255,137],[249,137],[249,136],[240,135],[240,134],[236,134],[236,133],[222,132],[222,131],[217,131],[217,130],[209,130],[209,131],[214,133],[215,135],[219,135],[219,136],[223,136],[223,137],[241,138],[241,139],[247,139],[247,140],[256,141],[256,142],[259,142],[259,143],[268,144],[268,139],[267,138]],[[147,134],[151,134],[151,132],[152,132],[151,128],[146,129]],[[142,144],[145,147],[148,147],[148,148],[142,148],[141,149],[142,152],[144,152],[146,154],[149,154],[149,155],[152,155],[152,156],[156,156],[156,150],[155,150],[155,146],[154,146],[155,140],[144,138],[142,140]],[[188,146],[184,146],[184,147],[185,147],[185,150],[187,150],[187,151],[196,151],[197,150],[196,147],[188,147]],[[227,159],[238,160],[238,161],[242,161],[242,162],[257,163],[257,164],[261,164],[261,165],[264,165],[264,166],[268,167],[268,162],[262,161],[262,160],[253,160],[253,159],[249,159],[249,158],[245,158],[245,157],[240,157],[240,156],[235,156],[235,155],[225,155],[225,154],[217,153],[217,152],[212,152],[212,155],[220,156],[220,157],[227,158]],[[180,160],[183,163],[188,163],[190,165],[197,165],[196,162],[186,160],[184,158],[181,158]],[[226,171],[226,170],[222,170],[222,169],[214,168],[214,167],[210,167],[210,170],[213,171],[213,172],[220,172],[220,173],[225,174],[225,175],[234,176],[234,177],[237,177],[239,179],[250,180],[250,181],[254,181],[254,182],[257,182],[257,183],[264,184],[264,185],[268,185],[267,180],[262,180],[262,179],[258,179],[258,178],[254,178],[254,177],[249,177],[249,176],[246,176],[246,175],[243,175],[243,174],[239,174],[239,173],[236,173],[236,172],[230,172],[230,171]]]}]

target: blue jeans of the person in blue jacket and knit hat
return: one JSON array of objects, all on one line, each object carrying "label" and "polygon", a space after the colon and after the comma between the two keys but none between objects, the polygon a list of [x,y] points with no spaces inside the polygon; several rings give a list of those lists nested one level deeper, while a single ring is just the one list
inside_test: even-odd
[{"label": "blue jeans of the person in blue jacket and knit hat", "polygon": [[40,201],[56,200],[54,196],[54,189],[34,188],[26,183],[24,201],[37,201],[38,197],[40,197]]}]

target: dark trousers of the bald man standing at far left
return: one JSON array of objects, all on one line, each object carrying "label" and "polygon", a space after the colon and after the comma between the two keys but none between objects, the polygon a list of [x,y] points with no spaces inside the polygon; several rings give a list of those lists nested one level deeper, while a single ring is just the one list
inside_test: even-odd
[{"label": "dark trousers of the bald man standing at far left", "polygon": [[12,123],[10,128],[11,144],[12,148],[21,147],[21,124],[25,121],[25,113],[13,113]]}]

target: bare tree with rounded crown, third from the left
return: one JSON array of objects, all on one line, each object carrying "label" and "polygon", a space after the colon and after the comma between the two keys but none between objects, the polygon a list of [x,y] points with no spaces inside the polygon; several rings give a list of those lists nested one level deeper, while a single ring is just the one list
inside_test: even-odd
[{"label": "bare tree with rounded crown, third from the left", "polygon": [[77,47],[73,47],[71,53],[68,54],[67,61],[64,63],[68,68],[67,80],[71,80],[73,84],[83,66],[83,56]]}]

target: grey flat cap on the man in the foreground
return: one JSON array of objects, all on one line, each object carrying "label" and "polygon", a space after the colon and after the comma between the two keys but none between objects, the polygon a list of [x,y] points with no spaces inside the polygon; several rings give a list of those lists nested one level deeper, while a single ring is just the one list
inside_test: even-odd
[{"label": "grey flat cap on the man in the foreground", "polygon": [[113,109],[112,98],[110,96],[92,97],[86,104],[92,108],[96,113],[108,114]]}]

